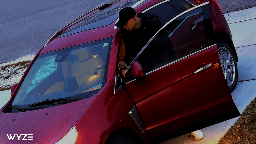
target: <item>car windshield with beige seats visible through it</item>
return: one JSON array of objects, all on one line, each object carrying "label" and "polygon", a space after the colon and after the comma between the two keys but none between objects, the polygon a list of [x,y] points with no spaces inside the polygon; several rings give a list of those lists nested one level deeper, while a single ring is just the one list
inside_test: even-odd
[{"label": "car windshield with beige seats visible through it", "polygon": [[112,37],[40,54],[12,105],[27,108],[45,100],[86,99],[106,84]]}]

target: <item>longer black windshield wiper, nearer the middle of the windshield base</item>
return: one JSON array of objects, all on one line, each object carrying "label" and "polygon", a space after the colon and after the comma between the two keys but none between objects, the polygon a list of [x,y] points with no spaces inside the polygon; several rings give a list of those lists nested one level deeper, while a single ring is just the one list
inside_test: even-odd
[{"label": "longer black windshield wiper, nearer the middle of the windshield base", "polygon": [[34,104],[29,105],[28,107],[37,107],[37,106],[42,106],[42,105],[56,105],[56,104],[64,104],[64,103],[69,103],[73,101],[78,101],[80,99],[77,98],[60,98],[60,99],[46,99],[44,101],[40,101]]}]

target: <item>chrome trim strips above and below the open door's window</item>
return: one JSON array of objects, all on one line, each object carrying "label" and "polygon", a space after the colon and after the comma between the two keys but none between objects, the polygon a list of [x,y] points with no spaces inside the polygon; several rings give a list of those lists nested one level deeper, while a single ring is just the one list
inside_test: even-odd
[{"label": "chrome trim strips above and below the open door's window", "polygon": [[[169,1],[169,0],[166,0],[166,1]],[[159,3],[158,3],[158,4],[159,4]],[[184,15],[184,14],[190,12],[190,11],[193,11],[193,10],[199,8],[199,7],[202,7],[202,6],[204,6],[204,5],[207,5],[207,4],[209,4],[209,2],[206,2],[206,3],[203,3],[203,4],[199,4],[199,5],[197,5],[197,6],[193,7],[193,8],[190,8],[190,9],[188,9],[187,11],[184,11],[184,12],[180,13],[179,15],[177,15],[176,17],[172,18],[172,19],[169,20],[166,24],[164,24],[164,26],[163,26],[162,28],[160,28],[160,29],[156,32],[156,34],[155,34],[154,36],[152,36],[152,37],[150,38],[150,40],[148,41],[148,43],[144,45],[144,47],[140,50],[140,52],[139,52],[139,53],[136,55],[136,57],[132,60],[132,62],[129,64],[129,66],[125,69],[125,73],[128,72],[128,70],[132,67],[132,64],[138,59],[138,57],[140,56],[140,54],[145,50],[145,48],[149,45],[149,43],[151,43],[152,40],[160,33],[160,31],[162,31],[162,29],[164,29],[167,25],[169,25],[172,21],[176,20],[176,19],[179,18],[180,16],[182,16],[182,15]],[[152,8],[153,8],[153,6],[152,6]],[[147,10],[149,10],[149,9],[147,9]],[[144,11],[143,11],[143,12],[144,12]],[[211,47],[211,46],[210,46],[210,47]],[[208,48],[208,47],[207,47],[207,48]],[[205,48],[205,49],[206,49],[206,48]],[[205,50],[205,49],[203,49],[203,50]],[[201,52],[201,50],[199,50],[199,51]],[[199,51],[197,51],[197,52],[199,52]],[[196,52],[195,52],[195,53],[196,53]],[[194,54],[194,53],[193,53],[193,54]],[[190,55],[190,56],[191,56],[191,55]],[[188,56],[185,56],[185,57],[187,58]],[[183,58],[184,58],[184,57],[183,57]],[[183,58],[181,58],[181,59],[183,59]],[[179,59],[179,60],[180,60],[180,59]],[[175,62],[177,62],[177,60],[175,60]],[[174,62],[171,62],[171,64],[173,64],[173,63],[174,63]],[[170,65],[170,63],[167,64],[167,65]],[[165,65],[165,66],[167,66],[167,65]],[[163,67],[161,67],[161,68],[163,68]],[[159,68],[157,68],[157,69],[159,69]],[[156,71],[156,70],[153,70],[153,71]],[[149,74],[149,73],[152,73],[152,71],[151,71],[151,72],[148,72],[147,74]]]}]

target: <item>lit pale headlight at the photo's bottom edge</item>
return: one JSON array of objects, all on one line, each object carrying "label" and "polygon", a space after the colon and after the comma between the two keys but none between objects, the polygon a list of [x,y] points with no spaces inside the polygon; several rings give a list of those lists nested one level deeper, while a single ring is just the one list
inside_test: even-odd
[{"label": "lit pale headlight at the photo's bottom edge", "polygon": [[78,137],[78,132],[76,130],[76,126],[74,125],[68,131],[68,133],[55,144],[74,144],[76,142],[77,137]]}]

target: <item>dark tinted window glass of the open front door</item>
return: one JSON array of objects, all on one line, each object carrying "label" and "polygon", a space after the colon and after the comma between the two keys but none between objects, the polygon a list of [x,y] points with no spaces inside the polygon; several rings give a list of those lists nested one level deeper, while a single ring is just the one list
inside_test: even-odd
[{"label": "dark tinted window glass of the open front door", "polygon": [[144,72],[160,68],[207,46],[203,8],[182,15],[168,24],[137,59]]}]

